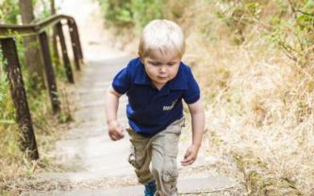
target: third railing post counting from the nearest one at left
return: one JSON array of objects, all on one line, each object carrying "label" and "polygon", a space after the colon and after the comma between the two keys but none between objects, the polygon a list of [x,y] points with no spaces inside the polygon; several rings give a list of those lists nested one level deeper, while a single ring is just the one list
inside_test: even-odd
[{"label": "third railing post counting from the nearest one at left", "polygon": [[73,72],[72,72],[72,68],[71,68],[71,64],[70,64],[70,60],[69,60],[69,56],[68,56],[68,52],[67,52],[67,47],[65,45],[65,40],[64,40],[61,22],[56,24],[56,28],[58,31],[59,41],[60,41],[60,45],[61,45],[61,50],[62,50],[61,53],[62,53],[62,57],[63,57],[63,64],[65,67],[65,72],[66,72],[66,75],[68,77],[69,82],[74,83]]}]

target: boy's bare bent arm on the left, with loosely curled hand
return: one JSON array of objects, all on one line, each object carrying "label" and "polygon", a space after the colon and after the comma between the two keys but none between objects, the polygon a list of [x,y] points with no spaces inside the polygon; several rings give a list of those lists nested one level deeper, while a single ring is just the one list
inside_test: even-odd
[{"label": "boy's bare bent arm on the left, with loosely curled hand", "polygon": [[108,125],[108,134],[113,141],[120,140],[124,137],[123,129],[117,121],[117,111],[119,105],[120,94],[117,93],[112,86],[106,92],[105,113]]}]

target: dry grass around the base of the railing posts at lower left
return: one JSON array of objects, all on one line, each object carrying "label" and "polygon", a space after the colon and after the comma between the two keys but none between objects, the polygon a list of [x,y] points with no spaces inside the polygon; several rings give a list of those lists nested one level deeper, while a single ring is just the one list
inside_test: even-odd
[{"label": "dry grass around the base of the railing posts at lower left", "polygon": [[[27,190],[31,187],[30,185],[36,184],[33,176],[39,172],[68,170],[61,165],[54,164],[53,157],[48,154],[52,150],[54,142],[69,126],[64,122],[67,122],[71,117],[71,110],[75,106],[75,104],[70,104],[67,102],[68,100],[65,100],[71,99],[72,95],[69,91],[73,91],[73,87],[59,83],[58,90],[62,103],[60,115],[52,116],[50,101],[46,92],[36,99],[28,99],[40,156],[39,160],[29,161],[26,159],[26,154],[21,152],[19,147],[20,131],[14,121],[0,124],[0,195],[19,195],[22,190]],[[7,107],[13,107],[10,100],[7,101]]]}]

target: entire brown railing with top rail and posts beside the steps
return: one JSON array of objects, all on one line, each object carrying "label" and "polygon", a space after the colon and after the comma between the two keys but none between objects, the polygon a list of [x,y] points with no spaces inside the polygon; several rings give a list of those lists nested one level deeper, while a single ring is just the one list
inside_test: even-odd
[{"label": "entire brown railing with top rail and posts beside the steps", "polygon": [[39,154],[28,108],[23,75],[19,63],[15,33],[20,36],[34,35],[38,37],[40,48],[42,49],[41,53],[44,61],[52,112],[53,114],[56,114],[60,111],[60,102],[53,73],[49,39],[46,32],[48,27],[55,27],[56,29],[57,36],[59,37],[65,73],[69,82],[74,83],[61,20],[66,20],[67,25],[69,26],[68,30],[70,33],[74,62],[77,70],[79,70],[80,64],[83,63],[83,54],[79,41],[78,26],[73,17],[67,15],[52,15],[46,20],[31,25],[0,25],[0,47],[3,57],[7,60],[7,65],[5,67],[10,83],[12,100],[16,108],[16,118],[21,131],[21,149],[26,151],[26,154],[28,154],[31,159],[38,159]]}]

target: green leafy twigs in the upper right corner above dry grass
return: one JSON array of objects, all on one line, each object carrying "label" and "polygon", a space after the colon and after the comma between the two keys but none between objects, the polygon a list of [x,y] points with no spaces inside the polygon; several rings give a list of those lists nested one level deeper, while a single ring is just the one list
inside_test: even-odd
[{"label": "green leafy twigs in the upper right corner above dry grass", "polygon": [[235,43],[245,41],[250,24],[262,27],[261,35],[283,49],[301,65],[313,60],[314,0],[215,0],[217,17],[235,33]]}]

